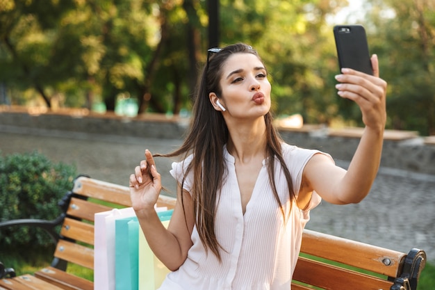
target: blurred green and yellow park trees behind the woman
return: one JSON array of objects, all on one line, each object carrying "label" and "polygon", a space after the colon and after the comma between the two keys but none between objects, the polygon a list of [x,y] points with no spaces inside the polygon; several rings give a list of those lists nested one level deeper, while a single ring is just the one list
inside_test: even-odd
[{"label": "blurred green and yellow park trees behind the woman", "polygon": [[274,111],[359,126],[334,88],[334,24],[363,24],[388,81],[388,129],[435,134],[434,0],[0,0],[0,104],[188,116],[209,47],[246,42]]}]

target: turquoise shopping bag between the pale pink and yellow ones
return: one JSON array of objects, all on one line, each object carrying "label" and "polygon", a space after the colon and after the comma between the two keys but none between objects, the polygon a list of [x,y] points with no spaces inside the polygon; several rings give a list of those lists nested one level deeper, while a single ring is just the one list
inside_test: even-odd
[{"label": "turquoise shopping bag between the pale pink and yellow ones", "polygon": [[116,290],[138,290],[138,234],[136,216],[115,220]]}]

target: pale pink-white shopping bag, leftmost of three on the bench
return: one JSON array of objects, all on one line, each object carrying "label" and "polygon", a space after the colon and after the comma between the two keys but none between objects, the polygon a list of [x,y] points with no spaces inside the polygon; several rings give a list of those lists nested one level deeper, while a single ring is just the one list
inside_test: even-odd
[{"label": "pale pink-white shopping bag, leftmost of three on the bench", "polygon": [[135,216],[131,207],[95,214],[94,287],[115,290],[115,220]]}]

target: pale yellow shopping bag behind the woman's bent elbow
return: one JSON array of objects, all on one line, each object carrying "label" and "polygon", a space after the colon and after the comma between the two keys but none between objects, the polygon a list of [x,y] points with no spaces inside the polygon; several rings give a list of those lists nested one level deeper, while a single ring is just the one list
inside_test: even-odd
[{"label": "pale yellow shopping bag behind the woman's bent elbow", "polygon": [[[158,217],[163,225],[169,225],[173,210],[158,212]],[[155,290],[161,286],[170,270],[157,259],[149,248],[147,239],[139,231],[139,290]]]}]

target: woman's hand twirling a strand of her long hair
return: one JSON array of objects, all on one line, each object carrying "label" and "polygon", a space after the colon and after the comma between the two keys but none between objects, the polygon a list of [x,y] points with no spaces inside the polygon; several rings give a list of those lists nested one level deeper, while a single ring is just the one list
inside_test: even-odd
[{"label": "woman's hand twirling a strand of her long hair", "polygon": [[136,166],[134,174],[130,175],[129,187],[131,204],[136,214],[154,211],[162,186],[161,175],[156,170],[156,163],[149,150],[145,150],[145,160],[140,161],[140,166]]}]

